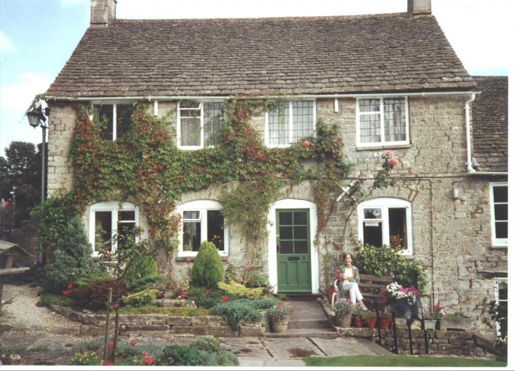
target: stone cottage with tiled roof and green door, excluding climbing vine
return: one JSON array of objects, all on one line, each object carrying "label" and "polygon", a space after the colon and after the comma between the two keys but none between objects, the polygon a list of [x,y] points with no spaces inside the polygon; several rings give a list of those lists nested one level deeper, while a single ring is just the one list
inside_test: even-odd
[{"label": "stone cottage with tiled roof and green door, excluding climbing vine", "polygon": [[[489,317],[488,303],[507,276],[507,78],[471,77],[430,1],[408,0],[404,13],[261,19],[120,20],[115,7],[116,0],[92,0],[90,27],[44,94],[52,108],[49,195],[84,184],[110,190],[98,193],[109,198],[85,205],[93,245],[100,228],[104,239],[121,225],[151,233],[152,218],[163,209],[154,207],[168,197],[167,214],[178,216],[170,223],[177,251],[162,258],[162,267],[194,259],[209,239],[223,259],[261,271],[275,290],[317,293],[328,284],[321,246],[356,251],[358,240],[381,245],[395,237],[407,258],[427,268],[432,303],[477,321]],[[323,228],[321,204],[307,180],[274,193],[265,205],[268,233],[260,237],[249,237],[221,212],[228,185],[241,177],[224,184],[202,180],[201,187],[193,180],[187,191],[171,195],[171,183],[178,189],[186,182],[184,173],[171,169],[179,162],[164,166],[149,153],[169,148],[181,164],[188,158],[197,164],[199,153],[222,153],[224,139],[216,133],[224,128],[224,105],[236,96],[261,99],[262,108],[267,99],[275,102],[249,118],[259,134],[253,146],[267,153],[311,148],[305,138],[320,120],[337,128],[341,152],[354,167],[328,196],[334,202]],[[170,124],[169,142],[154,133],[153,147],[141,154],[141,164],[154,164],[151,171],[123,175],[127,184],[141,177],[134,187],[148,183],[149,197],[162,195],[147,204],[123,182],[109,183],[131,161],[116,146],[133,135],[134,102],[145,102],[151,117]],[[77,107],[85,107],[89,119]],[[72,147],[81,138],[74,133],[99,118],[97,139],[78,153]],[[148,129],[147,122],[139,125]],[[110,150],[95,151],[100,145]],[[357,180],[370,185],[388,151],[399,160],[391,171],[395,184],[374,190],[346,219],[349,187]],[[102,159],[113,153],[119,166],[102,173]],[[209,167],[241,169],[245,158],[224,165],[210,157]],[[79,172],[77,163],[87,161],[97,162],[90,173]],[[201,165],[188,171],[200,179],[211,171]],[[167,171],[175,175],[149,183],[152,174]],[[259,210],[241,213],[252,217]]]}]

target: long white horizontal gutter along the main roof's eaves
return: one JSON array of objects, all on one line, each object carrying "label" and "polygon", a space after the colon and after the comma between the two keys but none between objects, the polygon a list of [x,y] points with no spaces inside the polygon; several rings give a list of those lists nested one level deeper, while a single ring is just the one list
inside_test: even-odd
[{"label": "long white horizontal gutter along the main roof's eaves", "polygon": [[[358,98],[358,97],[423,97],[433,95],[469,95],[469,94],[480,94],[480,92],[428,92],[428,93],[384,93],[384,94],[320,94],[320,95],[261,95],[261,96],[248,96],[238,97],[239,99],[265,99],[265,98]],[[178,100],[178,99],[196,99],[196,100],[220,100],[220,99],[231,99],[236,98],[233,95],[224,96],[197,96],[197,95],[174,95],[174,96],[139,96],[139,97],[58,97],[58,96],[44,96],[44,99],[56,99],[56,100],[73,100],[73,101],[122,101],[122,100]]]}]

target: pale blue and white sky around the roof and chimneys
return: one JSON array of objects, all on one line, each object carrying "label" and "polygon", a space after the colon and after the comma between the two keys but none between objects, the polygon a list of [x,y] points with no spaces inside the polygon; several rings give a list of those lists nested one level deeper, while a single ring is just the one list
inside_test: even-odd
[{"label": "pale blue and white sky around the roof and chimneys", "polygon": [[[90,22],[91,0],[0,0],[0,155],[12,140],[41,143],[25,112],[70,58]],[[258,6],[248,6],[258,4]],[[315,5],[316,4],[316,8]],[[436,16],[471,75],[508,75],[508,0],[433,0]],[[118,19],[347,15],[404,12],[407,0],[316,2],[118,0]]]}]

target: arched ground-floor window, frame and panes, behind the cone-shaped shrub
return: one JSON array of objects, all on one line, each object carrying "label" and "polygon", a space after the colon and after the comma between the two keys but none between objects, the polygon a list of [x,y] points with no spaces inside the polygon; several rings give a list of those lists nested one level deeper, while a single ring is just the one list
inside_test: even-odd
[{"label": "arched ground-floor window, frame and panes, behind the cone-shaped shrub", "polygon": [[213,242],[220,255],[228,255],[229,231],[221,205],[211,200],[186,202],[179,208],[182,217],[179,256],[195,256],[202,241]]}]

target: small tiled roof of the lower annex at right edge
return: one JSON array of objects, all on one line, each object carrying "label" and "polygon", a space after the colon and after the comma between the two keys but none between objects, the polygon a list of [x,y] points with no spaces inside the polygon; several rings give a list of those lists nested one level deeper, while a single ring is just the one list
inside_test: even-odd
[{"label": "small tiled roof of the lower annex at right edge", "polygon": [[474,76],[473,156],[480,171],[508,171],[508,76]]}]

